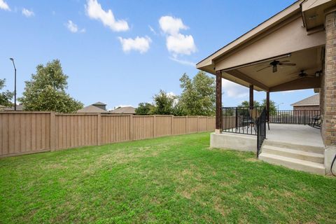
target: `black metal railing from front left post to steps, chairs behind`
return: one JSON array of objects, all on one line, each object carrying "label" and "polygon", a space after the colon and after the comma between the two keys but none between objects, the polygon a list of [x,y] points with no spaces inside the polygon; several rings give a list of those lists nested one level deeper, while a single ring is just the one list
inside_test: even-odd
[{"label": "black metal railing from front left post to steps, chairs behind", "polygon": [[222,131],[257,135],[256,123],[265,107],[223,107]]}]

